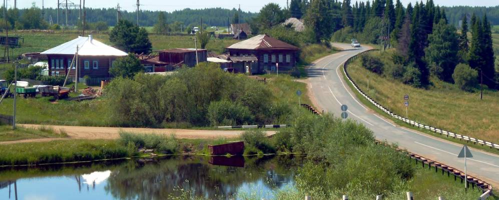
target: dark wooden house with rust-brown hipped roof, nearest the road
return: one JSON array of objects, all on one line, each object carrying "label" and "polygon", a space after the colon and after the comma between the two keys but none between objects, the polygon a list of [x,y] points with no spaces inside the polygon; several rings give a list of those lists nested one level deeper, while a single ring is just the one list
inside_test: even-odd
[{"label": "dark wooden house with rust-brown hipped roof, nearest the road", "polygon": [[246,73],[290,70],[296,66],[300,49],[266,34],[259,34],[227,47],[232,67]]}]

